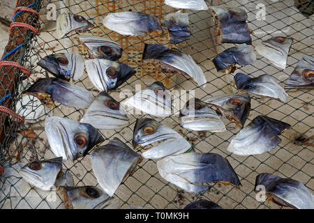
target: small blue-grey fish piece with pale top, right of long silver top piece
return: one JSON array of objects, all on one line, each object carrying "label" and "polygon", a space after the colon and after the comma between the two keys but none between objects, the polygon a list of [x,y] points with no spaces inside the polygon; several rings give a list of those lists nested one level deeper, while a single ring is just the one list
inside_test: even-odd
[{"label": "small blue-grey fish piece with pale top, right of long silver top piece", "polygon": [[190,27],[188,26],[188,13],[169,13],[160,21],[163,29],[167,29],[170,43],[181,43],[190,39]]}]

